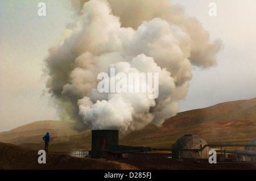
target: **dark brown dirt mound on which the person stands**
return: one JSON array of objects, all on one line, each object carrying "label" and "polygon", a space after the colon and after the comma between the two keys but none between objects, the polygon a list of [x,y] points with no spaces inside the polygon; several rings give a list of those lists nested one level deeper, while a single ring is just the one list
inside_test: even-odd
[{"label": "dark brown dirt mound on which the person stands", "polygon": [[38,163],[37,150],[0,142],[0,169],[7,170],[134,170],[126,163],[106,159],[77,158],[61,153],[47,153],[46,163]]}]

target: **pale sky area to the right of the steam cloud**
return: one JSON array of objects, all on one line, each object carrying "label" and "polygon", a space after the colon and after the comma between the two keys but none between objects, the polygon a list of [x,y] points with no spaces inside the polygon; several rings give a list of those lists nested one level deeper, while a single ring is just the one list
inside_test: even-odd
[{"label": "pale sky area to the right of the steam cloud", "polygon": [[[187,98],[180,111],[256,97],[256,1],[172,0],[184,6],[209,32],[221,39],[224,49],[217,55],[218,65],[208,70],[193,69]],[[209,3],[217,5],[217,16],[209,16]]]}]

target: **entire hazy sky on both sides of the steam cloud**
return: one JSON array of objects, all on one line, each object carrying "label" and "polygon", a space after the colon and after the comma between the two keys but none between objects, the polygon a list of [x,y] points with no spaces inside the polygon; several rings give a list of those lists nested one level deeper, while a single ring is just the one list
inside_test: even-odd
[{"label": "entire hazy sky on both sides of the steam cloud", "polygon": [[[47,16],[38,16],[38,3],[45,2]],[[37,120],[58,120],[42,96],[45,80],[42,64],[49,47],[61,40],[71,22],[63,0],[0,1],[0,132]],[[187,98],[180,111],[212,106],[230,100],[256,97],[256,1],[172,0],[184,6],[209,32],[221,39],[224,49],[214,68],[192,70]],[[210,2],[217,16],[209,16]]]}]

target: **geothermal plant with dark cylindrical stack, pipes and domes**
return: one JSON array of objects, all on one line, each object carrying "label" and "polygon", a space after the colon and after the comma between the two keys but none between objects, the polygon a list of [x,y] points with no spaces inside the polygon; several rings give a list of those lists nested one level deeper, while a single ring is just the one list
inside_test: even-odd
[{"label": "geothermal plant with dark cylindrical stack, pipes and domes", "polygon": [[[226,147],[243,147],[244,150],[226,149]],[[150,151],[171,151],[172,158],[176,159],[208,159],[210,150],[221,153],[220,159],[229,154],[237,154],[236,161],[256,161],[256,137],[247,144],[207,144],[207,142],[194,134],[185,134],[170,149],[150,148],[147,146],[119,145],[118,130],[93,130],[92,150],[82,157],[90,158],[122,158],[123,154],[147,153]],[[81,155],[81,154],[80,154]]]}]

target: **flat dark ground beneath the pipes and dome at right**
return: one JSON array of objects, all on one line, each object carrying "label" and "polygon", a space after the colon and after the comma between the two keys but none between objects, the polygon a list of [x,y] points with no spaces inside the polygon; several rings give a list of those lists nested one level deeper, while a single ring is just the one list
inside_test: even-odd
[{"label": "flat dark ground beneath the pipes and dome at right", "polygon": [[[210,164],[208,159],[175,159],[171,153],[129,153],[125,158],[113,159],[117,162],[136,166],[139,170],[255,170],[256,162],[234,162],[235,154],[228,159]],[[172,174],[177,172],[172,172]],[[191,174],[191,173],[190,173]],[[168,174],[170,175],[170,174]],[[230,175],[229,175],[230,176]]]}]

